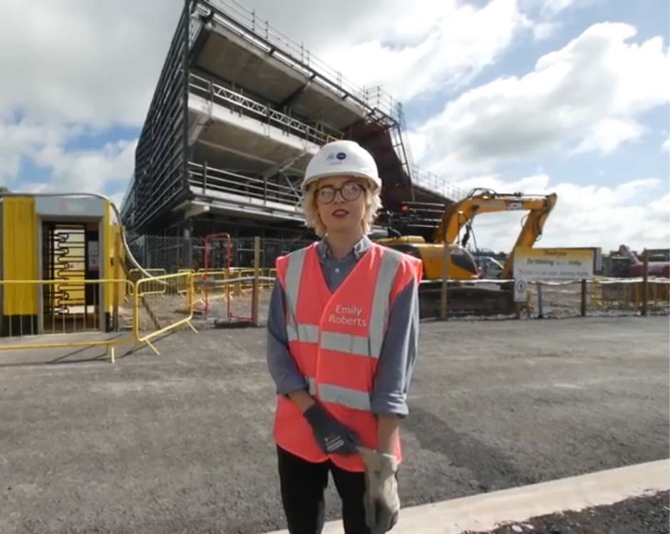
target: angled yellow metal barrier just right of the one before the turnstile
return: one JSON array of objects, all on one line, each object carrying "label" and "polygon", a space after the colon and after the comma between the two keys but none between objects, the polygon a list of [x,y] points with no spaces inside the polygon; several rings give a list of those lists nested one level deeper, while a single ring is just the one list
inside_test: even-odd
[{"label": "angled yellow metal barrier just right of the one before the turnstile", "polygon": [[[133,333],[138,343],[146,343],[156,355],[160,354],[151,340],[187,325],[192,325],[194,285],[192,272],[183,272],[142,278],[135,283],[133,306]],[[160,299],[155,298],[154,288],[163,286]],[[183,288],[183,289],[182,289]],[[153,300],[151,298],[154,297]],[[149,326],[148,326],[149,325]]]}]

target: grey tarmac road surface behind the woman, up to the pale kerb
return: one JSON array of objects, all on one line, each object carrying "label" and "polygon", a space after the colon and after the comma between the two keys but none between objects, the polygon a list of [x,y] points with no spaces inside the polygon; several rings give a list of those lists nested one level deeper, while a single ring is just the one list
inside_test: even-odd
[{"label": "grey tarmac road surface behind the woman, up to the pale kerb", "polygon": [[[667,458],[668,334],[666,317],[424,323],[403,506]],[[284,528],[264,345],[182,330],[116,365],[0,352],[0,532]]]}]

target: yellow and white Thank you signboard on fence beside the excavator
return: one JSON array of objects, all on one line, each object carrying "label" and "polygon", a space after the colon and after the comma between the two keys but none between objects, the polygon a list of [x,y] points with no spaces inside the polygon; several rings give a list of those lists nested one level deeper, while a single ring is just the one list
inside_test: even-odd
[{"label": "yellow and white Thank you signboard on fence beside the excavator", "polygon": [[593,251],[587,248],[527,248],[514,253],[514,278],[524,281],[590,280]]}]

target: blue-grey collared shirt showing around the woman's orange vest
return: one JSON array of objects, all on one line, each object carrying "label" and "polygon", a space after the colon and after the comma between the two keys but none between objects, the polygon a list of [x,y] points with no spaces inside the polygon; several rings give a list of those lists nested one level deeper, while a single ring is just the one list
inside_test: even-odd
[{"label": "blue-grey collared shirt showing around the woman's orange vest", "polygon": [[[316,246],[326,284],[336,290],[359,261],[372,242],[364,236],[344,258],[331,256],[328,243],[321,239]],[[285,294],[282,286],[274,284],[267,317],[267,364],[279,394],[307,389],[305,378],[298,371],[288,350],[284,320]],[[419,303],[416,279],[398,293],[388,315],[388,330],[384,339],[372,395],[375,414],[408,414],[407,392],[416,362],[418,349]]]}]

